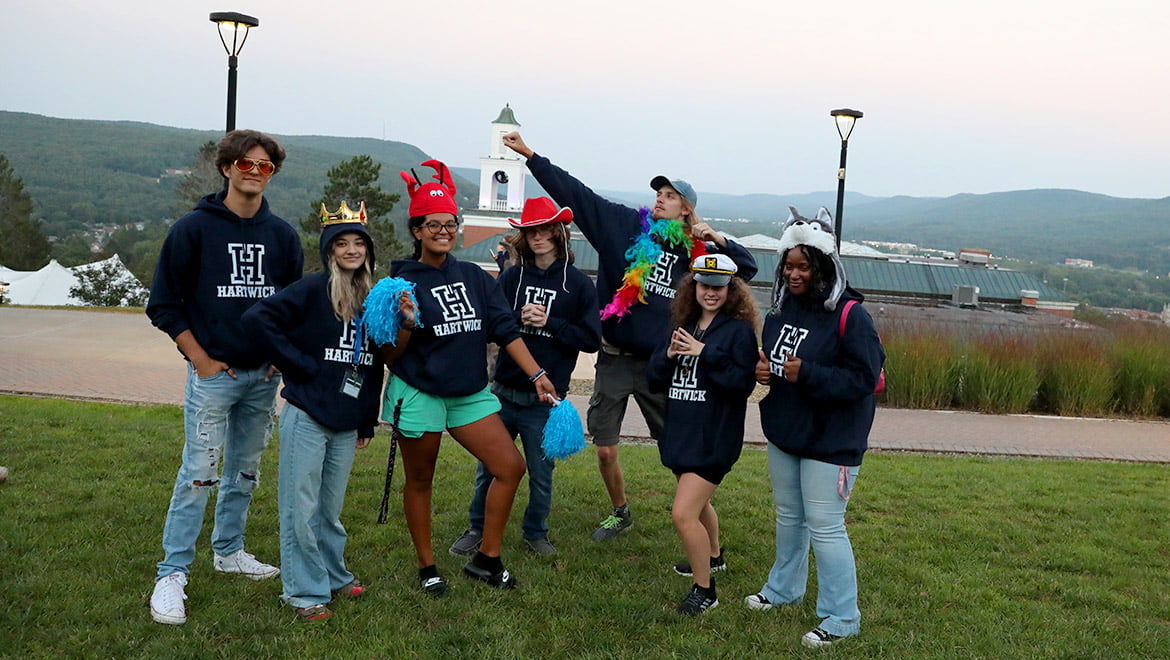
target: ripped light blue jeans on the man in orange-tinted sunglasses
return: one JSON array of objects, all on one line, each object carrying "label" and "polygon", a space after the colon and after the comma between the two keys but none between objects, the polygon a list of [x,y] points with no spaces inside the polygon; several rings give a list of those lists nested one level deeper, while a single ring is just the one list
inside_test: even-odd
[{"label": "ripped light blue jeans on the man in orange-tinted sunglasses", "polygon": [[267,365],[234,371],[235,378],[226,371],[200,378],[195,367],[187,364],[183,404],[186,441],[163,527],[165,556],[158,564],[160,578],[190,572],[187,566],[195,558],[195,541],[214,486],[219,486],[219,497],[212,549],[222,556],[243,548],[248,506],[252,491],[260,484],[260,456],[273,432],[281,379],[273,377],[266,383]]}]

